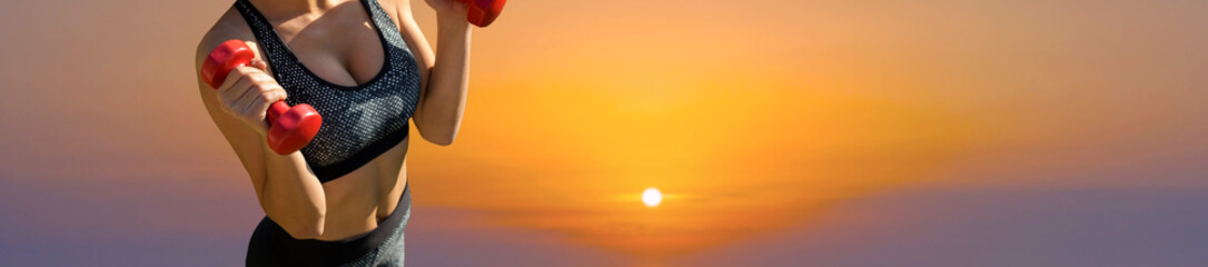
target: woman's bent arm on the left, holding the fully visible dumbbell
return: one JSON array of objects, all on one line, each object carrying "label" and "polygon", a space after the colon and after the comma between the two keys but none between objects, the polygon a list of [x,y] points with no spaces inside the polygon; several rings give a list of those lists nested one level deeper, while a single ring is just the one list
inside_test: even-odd
[{"label": "woman's bent arm on the left, holding the fully visible dumbbell", "polygon": [[[225,29],[222,21],[219,23],[197,47],[198,69],[214,47],[237,36],[230,31],[223,34],[223,30],[233,29]],[[248,170],[265,214],[295,238],[318,238],[323,234],[326,215],[323,185],[309,170],[301,152],[277,155],[265,141],[268,130],[261,106],[285,95],[284,89],[263,71],[263,63],[259,65],[259,69],[239,68],[232,71],[219,91],[198,79],[198,92],[210,118]],[[255,106],[246,108],[251,105]]]}]

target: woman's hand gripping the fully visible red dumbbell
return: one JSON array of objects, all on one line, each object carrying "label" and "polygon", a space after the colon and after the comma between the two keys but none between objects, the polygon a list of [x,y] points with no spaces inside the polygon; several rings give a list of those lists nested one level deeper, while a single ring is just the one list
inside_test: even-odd
[{"label": "woman's hand gripping the fully visible red dumbbell", "polygon": [[285,100],[285,89],[268,72],[263,60],[252,59],[251,65],[239,66],[227,75],[219,86],[217,99],[223,112],[238,118],[260,135],[268,135],[265,114],[268,105]]}]

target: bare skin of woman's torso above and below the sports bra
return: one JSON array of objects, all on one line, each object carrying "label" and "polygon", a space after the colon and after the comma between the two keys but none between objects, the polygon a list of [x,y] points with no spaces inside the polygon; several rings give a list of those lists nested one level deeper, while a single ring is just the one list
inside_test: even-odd
[{"label": "bare skin of woman's torso above and below the sports bra", "polygon": [[[260,1],[251,2],[257,5],[260,13],[298,62],[326,82],[349,87],[365,85],[387,64],[384,43],[359,0],[335,4],[321,14],[278,11]],[[381,4],[383,10],[394,10],[394,2]],[[388,13],[395,23],[399,22],[397,14]],[[242,24],[242,28],[231,28],[238,31],[230,33],[233,36],[256,40],[238,10],[231,8],[225,13],[219,24],[223,23]],[[411,42],[407,45],[411,46]],[[417,50],[411,47],[411,51]],[[257,47],[257,57],[263,58],[263,52]],[[272,66],[268,71],[273,74]],[[405,157],[408,140],[403,138],[368,163],[323,184],[327,213],[324,232],[318,239],[339,240],[366,233],[395,210],[407,185]]]}]

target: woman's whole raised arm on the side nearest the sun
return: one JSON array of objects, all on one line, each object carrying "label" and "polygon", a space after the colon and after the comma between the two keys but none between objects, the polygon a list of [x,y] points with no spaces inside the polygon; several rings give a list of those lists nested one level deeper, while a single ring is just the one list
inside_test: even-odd
[{"label": "woman's whole raised arm on the side nearest the sun", "polygon": [[[465,99],[470,80],[470,23],[466,6],[457,0],[426,0],[436,10],[436,56],[426,42],[419,42],[422,64],[428,68],[428,80],[419,94],[414,120],[419,135],[437,145],[449,145],[457,138],[465,114]],[[408,24],[411,35],[423,35],[411,17],[407,1],[400,5],[400,14]],[[403,7],[406,6],[406,7]],[[403,10],[406,8],[406,10]]]}]

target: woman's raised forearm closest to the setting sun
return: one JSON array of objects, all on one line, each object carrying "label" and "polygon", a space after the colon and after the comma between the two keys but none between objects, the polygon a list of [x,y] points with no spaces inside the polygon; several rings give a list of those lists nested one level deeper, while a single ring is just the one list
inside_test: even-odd
[{"label": "woman's raised forearm closest to the setting sun", "polygon": [[436,63],[416,117],[425,140],[448,145],[457,137],[465,112],[470,80],[470,24],[465,17],[437,18]]}]

